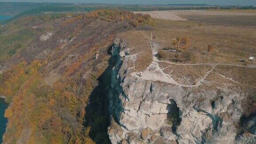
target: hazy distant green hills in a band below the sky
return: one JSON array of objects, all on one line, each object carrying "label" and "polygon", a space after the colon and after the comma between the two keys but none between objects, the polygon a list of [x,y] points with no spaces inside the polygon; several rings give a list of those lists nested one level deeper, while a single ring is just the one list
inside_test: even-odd
[{"label": "hazy distant green hills in a band below the sky", "polygon": [[207,4],[68,4],[68,3],[12,3],[0,2],[0,15],[13,16],[1,23],[8,23],[22,16],[38,15],[43,13],[64,12],[91,12],[99,9],[122,9],[135,11],[164,11],[164,10],[231,10],[231,9],[256,9],[255,6],[240,5],[207,5]]}]

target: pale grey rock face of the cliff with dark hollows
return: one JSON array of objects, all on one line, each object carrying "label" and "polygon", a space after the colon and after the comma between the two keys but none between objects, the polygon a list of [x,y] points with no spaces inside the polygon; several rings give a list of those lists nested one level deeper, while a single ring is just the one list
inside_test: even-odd
[{"label": "pale grey rock face of the cliff with dark hollows", "polygon": [[129,75],[127,44],[117,39],[112,47],[112,82],[109,92],[112,144],[198,144],[256,142],[255,118],[250,135],[237,135],[244,94],[228,88],[182,88]]}]

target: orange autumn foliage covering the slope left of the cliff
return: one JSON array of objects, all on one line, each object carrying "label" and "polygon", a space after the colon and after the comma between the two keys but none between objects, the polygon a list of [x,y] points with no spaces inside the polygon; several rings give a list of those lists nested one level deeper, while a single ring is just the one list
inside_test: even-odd
[{"label": "orange autumn foliage covering the slope left of the cliff", "polygon": [[[63,24],[73,24],[82,19],[83,22],[77,24],[79,28],[65,36],[70,38],[76,36],[84,28],[83,25],[90,21],[88,19],[101,19],[114,23],[127,20],[128,23],[132,21],[134,26],[153,23],[150,17],[145,15],[118,10],[99,10],[70,18]],[[89,96],[97,85],[97,79],[108,67],[107,48],[113,43],[117,32],[109,31],[106,34],[108,38],[102,35],[100,38],[88,36],[80,41],[75,39],[70,43],[72,45],[58,56],[48,56],[48,60],[34,60],[30,64],[21,62],[4,72],[1,76],[3,80],[0,84],[0,94],[6,96],[6,100],[12,103],[5,112],[5,116],[8,117],[8,132],[5,133],[4,140],[8,141],[7,143],[16,143],[24,132],[28,132],[31,133],[30,136],[28,135],[30,143],[40,141],[54,144],[95,144],[89,136],[90,127],[84,126],[84,119],[87,118],[85,108]],[[64,74],[61,73],[62,69],[59,71],[63,74],[60,80],[53,86],[45,84],[47,76],[45,71],[51,67],[44,67],[45,65],[53,59],[55,63],[63,64],[63,61],[67,60],[68,55],[76,48],[80,50],[82,46],[87,45],[89,48],[85,49],[86,53],[81,54],[80,59],[66,66]],[[62,48],[63,45],[59,45],[54,52],[59,54],[63,51]],[[100,56],[95,61],[93,56],[97,51],[100,51]],[[52,65],[54,67],[54,64]],[[86,80],[81,79],[87,68],[92,67],[92,73],[88,73]],[[96,135],[100,137],[99,139],[105,138],[103,134]]]}]

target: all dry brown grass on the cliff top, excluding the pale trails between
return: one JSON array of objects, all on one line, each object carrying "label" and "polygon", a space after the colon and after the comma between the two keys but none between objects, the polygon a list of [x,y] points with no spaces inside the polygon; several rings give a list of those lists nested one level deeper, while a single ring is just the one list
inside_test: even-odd
[{"label": "all dry brown grass on the cliff top, excluding the pale trails between", "polygon": [[[190,39],[187,52],[192,55],[191,60],[188,61],[191,64],[220,62],[243,65],[244,63],[238,60],[247,60],[248,56],[255,52],[256,28],[200,24],[192,21],[156,20],[156,23],[157,27],[152,32],[157,38],[154,42],[161,48],[173,48],[172,40],[176,37]],[[142,71],[152,60],[151,47],[148,43],[150,33],[151,31],[125,33],[132,54],[139,55],[135,62],[139,71]],[[213,44],[214,49],[207,52],[209,44]],[[163,52],[161,48],[160,53],[165,55],[162,60],[173,61],[175,53]],[[212,68],[212,65],[173,65],[161,62],[160,67],[178,83],[194,84]],[[218,65],[207,78],[209,84],[204,86],[229,87],[237,91],[244,87],[254,88],[255,74],[255,68]]]}]

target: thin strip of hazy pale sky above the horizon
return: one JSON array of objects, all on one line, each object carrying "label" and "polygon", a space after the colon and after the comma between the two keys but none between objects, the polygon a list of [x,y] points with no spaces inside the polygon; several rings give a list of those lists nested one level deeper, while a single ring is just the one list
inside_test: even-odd
[{"label": "thin strip of hazy pale sky above the horizon", "polygon": [[242,4],[256,5],[256,0],[0,0],[0,2],[64,2],[103,4]]}]

